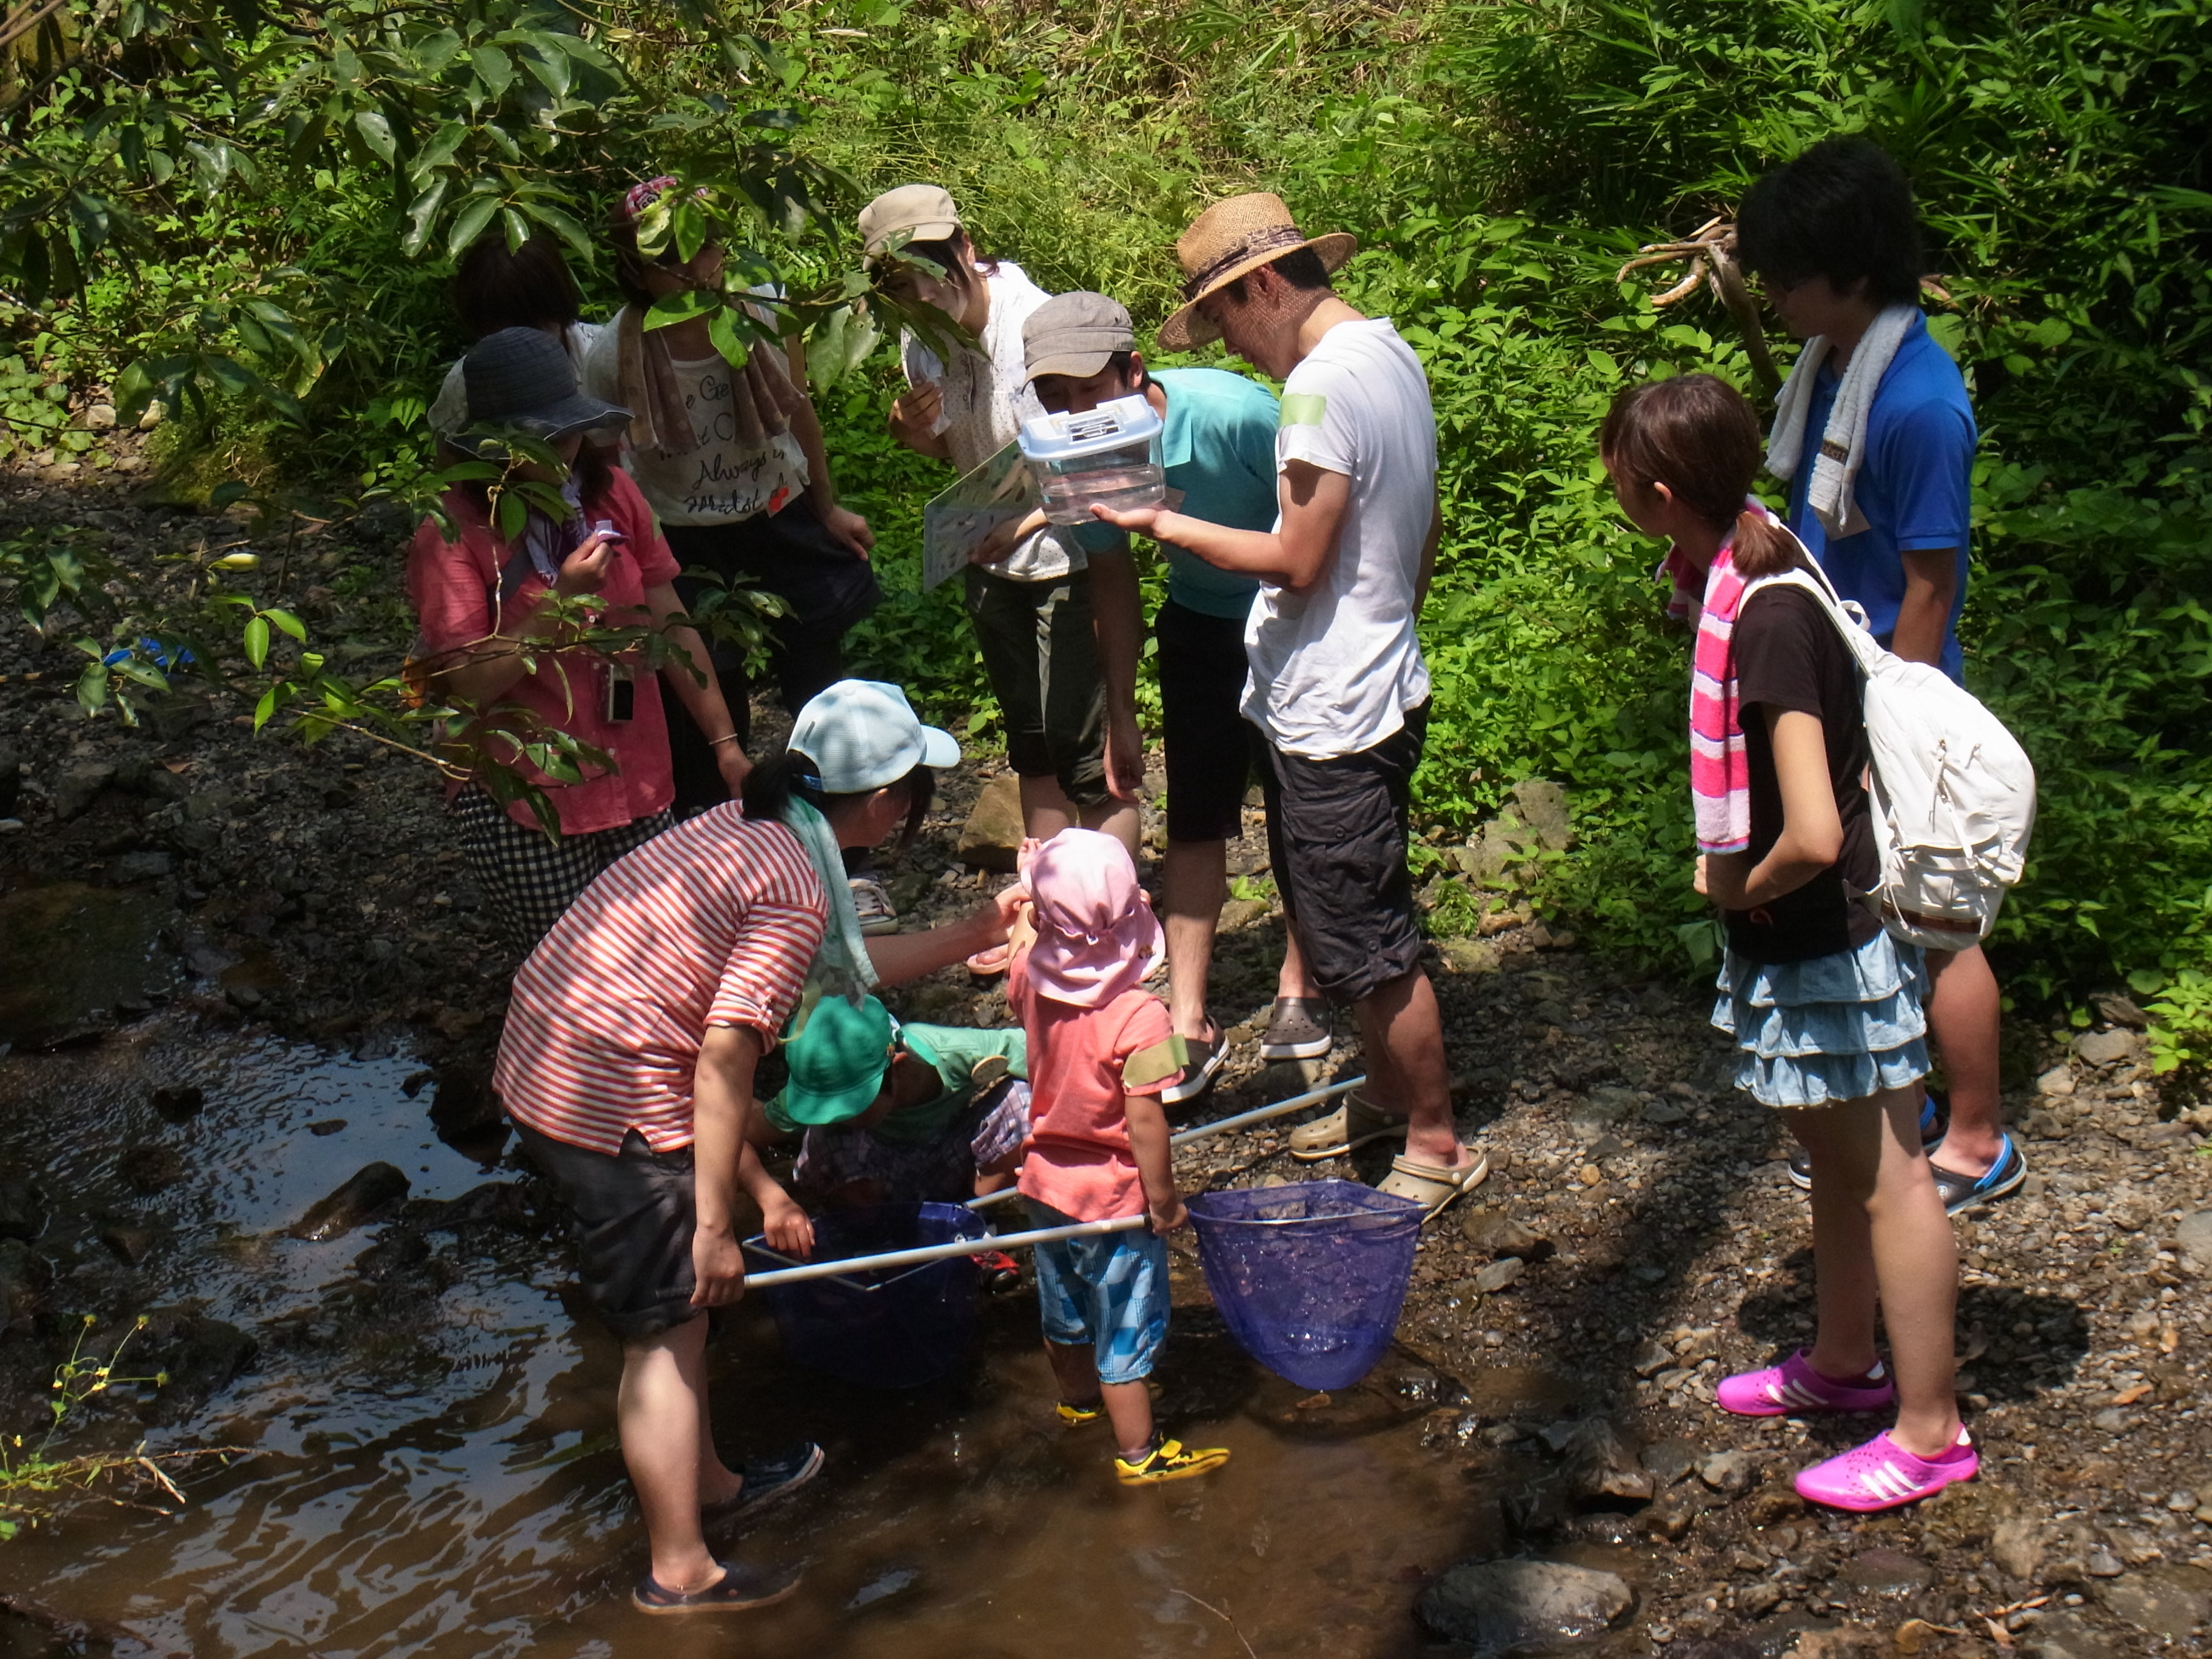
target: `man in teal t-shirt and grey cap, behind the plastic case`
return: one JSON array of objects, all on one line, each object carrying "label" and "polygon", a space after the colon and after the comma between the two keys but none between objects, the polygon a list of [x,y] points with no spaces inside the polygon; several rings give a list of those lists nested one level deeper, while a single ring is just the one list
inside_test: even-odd
[{"label": "man in teal t-shirt and grey cap, behind the plastic case", "polygon": [[[1128,312],[1106,294],[1060,294],[1022,325],[1029,385],[1053,414],[1141,396],[1161,418],[1168,502],[1217,524],[1270,531],[1276,518],[1274,394],[1225,369],[1144,367]],[[1137,730],[1137,657],[1144,606],[1124,531],[1079,533],[1091,555],[1091,602],[1106,675],[1106,787],[1137,799],[1144,739]],[[1243,717],[1245,617],[1259,582],[1164,546],[1168,597],[1152,617],[1159,641],[1159,712],[1168,772],[1164,911],[1168,1011],[1190,1044],[1183,1082],[1168,1104],[1190,1099],[1221,1068],[1221,1026],[1206,1011],[1214,925],[1228,898],[1228,843],[1243,830],[1245,787],[1267,765],[1259,730]],[[1285,929],[1287,933],[1287,929]],[[1261,1037],[1267,1060],[1318,1060],[1329,1051],[1329,1004],[1287,938],[1276,1002]]]}]

